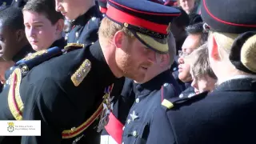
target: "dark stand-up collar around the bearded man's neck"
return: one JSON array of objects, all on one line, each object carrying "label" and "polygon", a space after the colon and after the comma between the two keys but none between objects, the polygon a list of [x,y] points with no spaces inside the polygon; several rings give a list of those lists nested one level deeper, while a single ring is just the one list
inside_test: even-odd
[{"label": "dark stand-up collar around the bearded man's neck", "polygon": [[106,63],[106,59],[103,55],[102,48],[99,42],[94,42],[90,46],[90,60],[92,60],[92,69],[94,73],[98,74],[98,79],[101,80],[101,83],[104,86],[110,86],[117,78],[110,70],[110,66]]}]

